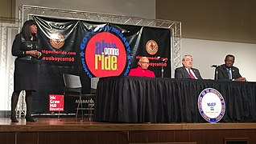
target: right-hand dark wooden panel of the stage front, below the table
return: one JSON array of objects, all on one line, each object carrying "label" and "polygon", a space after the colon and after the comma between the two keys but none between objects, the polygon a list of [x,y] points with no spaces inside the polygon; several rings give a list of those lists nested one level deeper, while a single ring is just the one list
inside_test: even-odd
[{"label": "right-hand dark wooden panel of the stage front, below the table", "polygon": [[247,140],[256,143],[253,136],[256,130],[170,130],[170,131],[132,131],[130,132],[131,143],[145,142],[196,142],[196,143],[225,143]]}]

